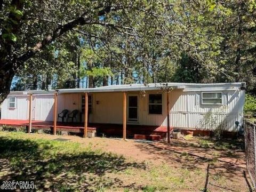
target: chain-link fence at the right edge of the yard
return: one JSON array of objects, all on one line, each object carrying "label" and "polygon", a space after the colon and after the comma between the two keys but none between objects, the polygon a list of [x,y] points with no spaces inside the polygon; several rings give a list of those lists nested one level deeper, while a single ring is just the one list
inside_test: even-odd
[{"label": "chain-link fence at the right edge of the yard", "polygon": [[246,167],[254,189],[256,188],[256,124],[244,121]]}]

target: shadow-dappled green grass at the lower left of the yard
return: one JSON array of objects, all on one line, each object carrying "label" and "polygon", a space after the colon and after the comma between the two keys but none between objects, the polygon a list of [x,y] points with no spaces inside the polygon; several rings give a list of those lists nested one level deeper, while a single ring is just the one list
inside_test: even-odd
[{"label": "shadow-dappled green grass at the lower left of the yard", "polygon": [[107,173],[129,167],[145,169],[143,163],[128,163],[122,156],[90,149],[76,150],[76,145],[70,151],[63,151],[65,145],[74,144],[0,137],[0,180],[31,180],[37,190],[43,191],[94,191],[123,185],[121,180],[111,179]]}]

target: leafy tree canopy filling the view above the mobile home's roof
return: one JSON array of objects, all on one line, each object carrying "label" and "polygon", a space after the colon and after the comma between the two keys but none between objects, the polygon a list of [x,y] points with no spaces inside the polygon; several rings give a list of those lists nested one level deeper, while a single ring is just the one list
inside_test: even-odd
[{"label": "leafy tree canopy filling the view above the mobile home's roof", "polygon": [[255,14],[254,0],[0,0],[0,102],[14,76],[14,90],[245,81],[255,93]]}]

